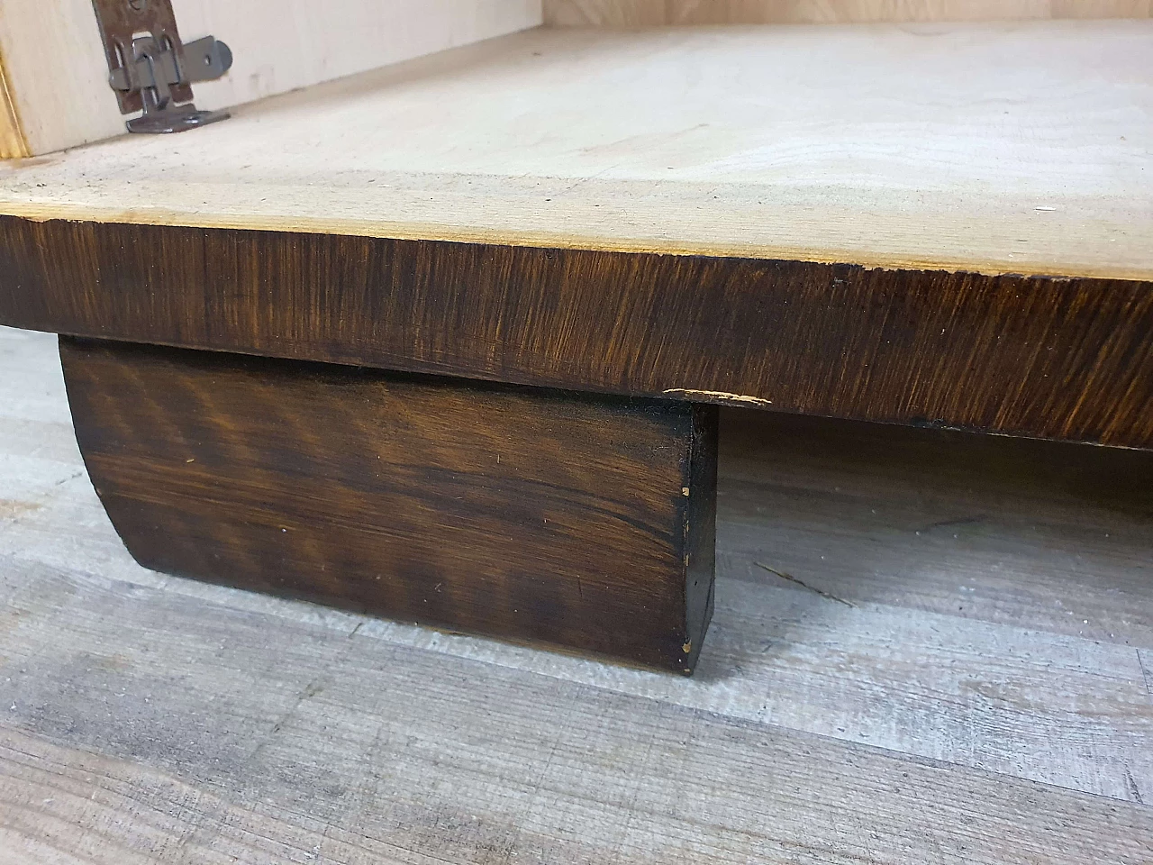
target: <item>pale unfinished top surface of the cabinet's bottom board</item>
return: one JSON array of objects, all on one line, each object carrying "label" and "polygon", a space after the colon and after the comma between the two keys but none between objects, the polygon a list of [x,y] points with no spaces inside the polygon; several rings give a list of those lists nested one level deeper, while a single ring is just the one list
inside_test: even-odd
[{"label": "pale unfinished top surface of the cabinet's bottom board", "polygon": [[1153,281],[1151,54],[1153,21],[538,28],[0,164],[0,213]]}]

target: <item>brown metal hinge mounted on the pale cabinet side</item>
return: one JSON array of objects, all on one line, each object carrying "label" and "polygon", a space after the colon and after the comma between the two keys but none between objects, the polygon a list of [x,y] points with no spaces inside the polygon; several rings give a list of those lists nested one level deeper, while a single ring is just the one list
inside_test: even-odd
[{"label": "brown metal hinge mounted on the pale cabinet side", "polygon": [[179,133],[228,116],[197,111],[191,88],[228,72],[227,45],[211,36],[181,43],[169,0],[92,0],[92,8],[120,113],[144,112],[126,123],[128,131]]}]

